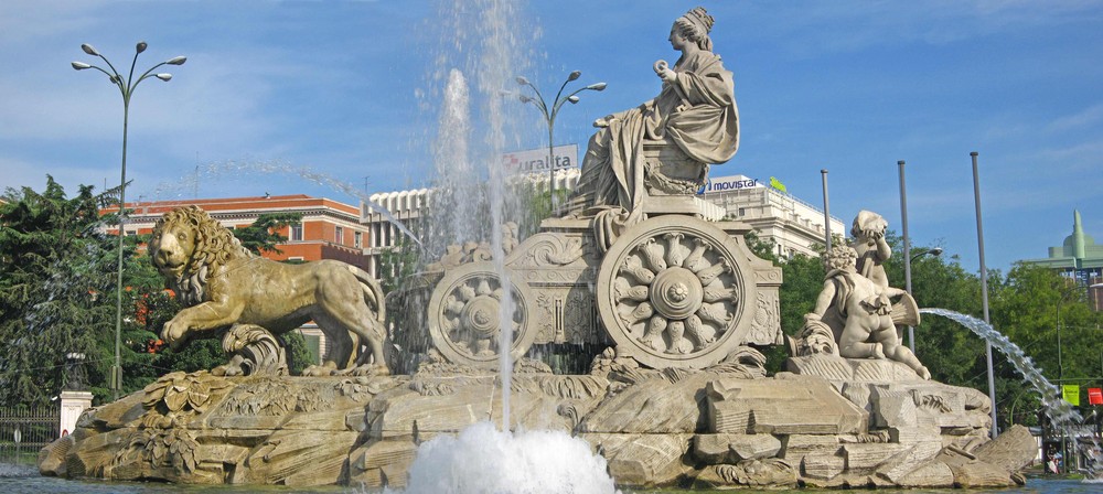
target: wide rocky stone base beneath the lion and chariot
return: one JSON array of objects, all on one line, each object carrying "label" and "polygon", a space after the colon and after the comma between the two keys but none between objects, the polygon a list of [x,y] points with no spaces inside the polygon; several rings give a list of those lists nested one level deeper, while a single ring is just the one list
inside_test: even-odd
[{"label": "wide rocky stone base beneath the lion and chariot", "polygon": [[[987,441],[986,397],[874,362],[801,357],[772,378],[739,364],[651,370],[610,359],[591,375],[563,376],[523,363],[511,418],[588,441],[627,486],[1021,484],[1016,472],[1034,441],[1025,429]],[[497,377],[447,364],[388,377],[176,373],[87,411],[42,450],[39,468],[107,480],[400,487],[418,444],[500,417]]]}]

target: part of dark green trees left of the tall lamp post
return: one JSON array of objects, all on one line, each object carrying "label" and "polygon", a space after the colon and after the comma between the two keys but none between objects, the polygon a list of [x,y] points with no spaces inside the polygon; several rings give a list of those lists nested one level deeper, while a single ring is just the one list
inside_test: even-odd
[{"label": "part of dark green trees left of the tall lamp post", "polygon": [[[104,234],[92,186],[69,198],[9,189],[0,205],[0,402],[45,404],[66,382],[65,355],[86,355],[93,391],[110,366],[115,237]],[[132,246],[128,246],[132,247]]]}]

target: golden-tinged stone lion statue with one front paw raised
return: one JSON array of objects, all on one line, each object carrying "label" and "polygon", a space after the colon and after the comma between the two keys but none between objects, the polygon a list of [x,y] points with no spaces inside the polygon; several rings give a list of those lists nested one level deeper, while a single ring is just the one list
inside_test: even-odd
[{"label": "golden-tinged stone lion statue with one front paw raised", "polygon": [[[153,229],[149,255],[186,305],[161,331],[173,348],[236,324],[282,334],[313,320],[331,351],[322,366],[303,374],[332,374],[355,364],[364,364],[364,372],[389,373],[383,290],[362,269],[336,260],[287,265],[258,257],[197,206],[165,213]],[[362,343],[371,353],[354,364]]]}]

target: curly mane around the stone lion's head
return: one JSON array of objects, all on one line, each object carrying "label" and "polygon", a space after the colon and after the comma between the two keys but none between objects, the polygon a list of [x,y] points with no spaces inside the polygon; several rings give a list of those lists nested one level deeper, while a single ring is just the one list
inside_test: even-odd
[{"label": "curly mane around the stone lion's head", "polygon": [[169,288],[176,292],[176,299],[184,305],[192,307],[203,302],[207,277],[217,273],[226,262],[242,257],[255,257],[229,229],[194,205],[165,213],[153,228],[153,238],[159,238],[165,229],[178,226],[195,232],[195,248],[183,272],[179,277],[165,279]]}]

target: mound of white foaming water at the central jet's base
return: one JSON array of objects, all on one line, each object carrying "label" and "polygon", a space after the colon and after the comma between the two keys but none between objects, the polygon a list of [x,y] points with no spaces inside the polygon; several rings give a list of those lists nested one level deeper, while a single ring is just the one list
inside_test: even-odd
[{"label": "mound of white foaming water at the central jet's base", "polygon": [[563,431],[501,431],[479,422],[422,443],[406,494],[617,493],[606,459]]}]

